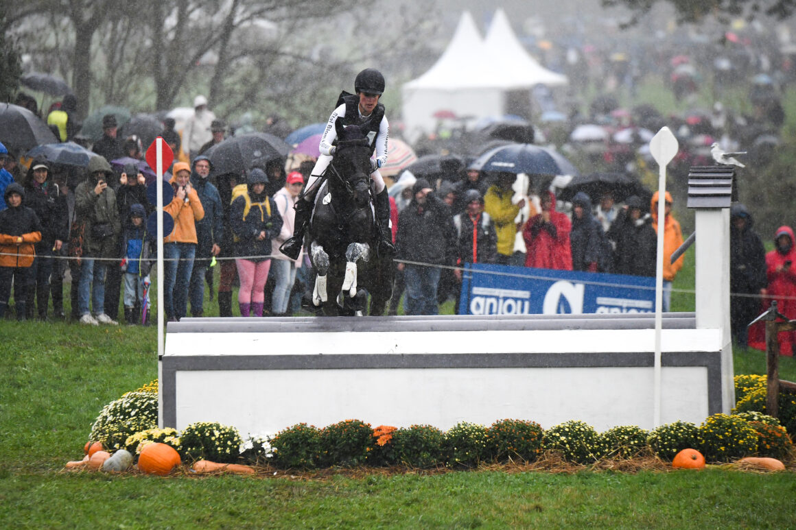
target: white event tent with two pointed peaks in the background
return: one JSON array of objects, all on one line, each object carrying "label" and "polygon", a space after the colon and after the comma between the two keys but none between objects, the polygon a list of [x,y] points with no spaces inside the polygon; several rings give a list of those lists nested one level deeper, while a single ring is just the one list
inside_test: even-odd
[{"label": "white event tent with two pointed peaks in the background", "polygon": [[404,134],[413,141],[434,131],[438,111],[472,121],[509,114],[509,99],[516,101],[518,93],[529,102],[533,86],[566,83],[565,76],[547,70],[525,52],[502,10],[497,10],[486,41],[465,11],[436,63],[404,84]]}]

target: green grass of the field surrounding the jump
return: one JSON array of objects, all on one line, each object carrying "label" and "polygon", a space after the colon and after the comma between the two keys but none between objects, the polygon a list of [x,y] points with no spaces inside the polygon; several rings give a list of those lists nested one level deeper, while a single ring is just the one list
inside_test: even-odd
[{"label": "green grass of the field surrounding the jump", "polygon": [[[674,310],[693,310],[693,251]],[[154,292],[154,290],[153,290]],[[453,302],[441,308],[452,314]],[[205,314],[217,315],[205,298]],[[794,528],[794,473],[494,470],[170,478],[63,470],[100,409],[157,377],[155,327],[0,322],[2,528]],[[765,373],[755,350],[736,373]],[[782,358],[783,379],[796,361]],[[365,419],[366,421],[368,419]],[[288,426],[285,426],[288,427]]]}]

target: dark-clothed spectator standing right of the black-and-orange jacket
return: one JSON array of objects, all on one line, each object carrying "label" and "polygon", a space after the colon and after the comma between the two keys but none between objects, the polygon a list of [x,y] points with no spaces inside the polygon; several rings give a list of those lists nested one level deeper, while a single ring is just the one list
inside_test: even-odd
[{"label": "dark-clothed spectator standing right of the black-and-orange jacket", "polygon": [[36,244],[36,258],[28,276],[25,317],[33,318],[38,309],[39,318],[47,320],[53,255],[60,251],[69,235],[66,197],[60,194],[45,162],[30,165],[23,185],[25,200],[22,204],[33,209],[41,222],[41,241]]}]

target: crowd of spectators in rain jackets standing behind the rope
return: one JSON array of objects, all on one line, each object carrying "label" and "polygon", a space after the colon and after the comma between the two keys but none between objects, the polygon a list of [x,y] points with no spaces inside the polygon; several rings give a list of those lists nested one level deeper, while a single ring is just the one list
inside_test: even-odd
[{"label": "crowd of spectators in rain jackets standing behind the rope", "polygon": [[[51,123],[61,139],[75,132],[64,99]],[[291,259],[279,251],[294,233],[295,204],[313,161],[288,159],[244,173],[219,174],[205,151],[224,141],[226,125],[197,96],[195,115],[182,136],[167,119],[163,138],[188,161],[170,168],[174,197],[164,205],[174,228],[163,240],[164,312],[168,321],[204,314],[205,292],[221,317],[232,316],[233,286],[241,316],[297,313],[314,275],[306,252]],[[138,138],[117,138],[114,115],[103,118],[96,156],[82,172],[33,160],[22,173],[4,146],[0,162],[0,317],[71,318],[87,325],[151,321],[151,271],[157,245],[150,223],[154,205],[146,177],[134,163],[114,170],[112,160],[142,159]],[[181,142],[185,145],[180,146]],[[212,175],[212,176],[211,176]],[[404,314],[437,314],[453,298],[457,306],[466,263],[493,263],[564,271],[654,276],[657,203],[638,196],[614,203],[611,193],[576,193],[566,205],[544,190],[527,201],[513,198],[514,173],[462,168],[435,181],[420,177],[391,198],[396,279],[390,314],[403,296]],[[400,180],[399,180],[400,182]],[[682,257],[669,257],[683,243],[665,194],[664,303]],[[527,221],[518,214],[527,208]],[[794,232],[783,226],[775,250],[766,253],[743,205],[732,209],[732,329],[741,345],[763,337],[746,324],[760,311],[760,298],[778,299],[794,313]],[[517,242],[521,241],[518,246]],[[214,275],[215,267],[220,268]],[[218,277],[218,285],[214,278]],[[64,279],[71,279],[71,315],[64,314]],[[13,311],[10,310],[13,290]],[[52,298],[52,314],[49,313]],[[120,315],[120,302],[123,314]],[[767,303],[767,302],[765,302]],[[765,304],[764,304],[765,305]],[[52,315],[52,316],[51,316]],[[796,313],[791,316],[796,316]],[[794,340],[783,337],[782,353]]]}]

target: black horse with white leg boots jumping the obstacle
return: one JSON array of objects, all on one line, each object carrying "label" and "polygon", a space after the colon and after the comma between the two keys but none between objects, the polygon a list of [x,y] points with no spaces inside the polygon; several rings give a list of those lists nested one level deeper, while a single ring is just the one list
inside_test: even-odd
[{"label": "black horse with white leg boots jumping the obstacle", "polygon": [[[313,303],[327,315],[384,314],[392,296],[392,255],[379,251],[365,126],[343,127],[310,221],[310,261],[318,276]],[[329,298],[328,292],[338,293]]]}]

